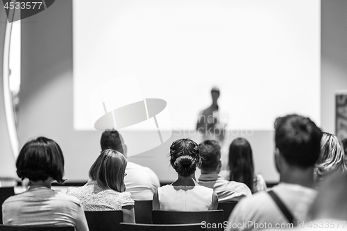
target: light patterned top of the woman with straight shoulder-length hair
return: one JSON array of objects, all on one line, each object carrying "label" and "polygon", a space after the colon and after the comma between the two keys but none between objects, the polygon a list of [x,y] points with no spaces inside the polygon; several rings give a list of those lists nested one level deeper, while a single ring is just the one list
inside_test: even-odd
[{"label": "light patterned top of the woman with straight shoulder-length hair", "polygon": [[85,211],[121,210],[124,206],[135,204],[130,193],[102,189],[95,180],[82,187],[69,187],[67,194],[76,196]]}]

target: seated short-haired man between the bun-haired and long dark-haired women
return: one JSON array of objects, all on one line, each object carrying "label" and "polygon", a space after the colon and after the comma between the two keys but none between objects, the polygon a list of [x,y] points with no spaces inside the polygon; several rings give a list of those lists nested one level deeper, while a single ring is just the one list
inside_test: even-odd
[{"label": "seated short-haired man between the bun-haired and long dark-haired women", "polygon": [[244,183],[228,181],[219,174],[221,170],[221,147],[215,140],[205,140],[198,145],[201,156],[201,176],[199,185],[214,189],[218,202],[238,201],[244,196],[251,196],[251,189]]}]

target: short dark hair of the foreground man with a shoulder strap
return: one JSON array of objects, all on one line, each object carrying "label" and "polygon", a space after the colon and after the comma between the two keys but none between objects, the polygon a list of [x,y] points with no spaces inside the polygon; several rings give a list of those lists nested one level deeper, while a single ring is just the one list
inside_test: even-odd
[{"label": "short dark hair of the foreground man with a shoulder strap", "polygon": [[321,152],[322,131],[310,118],[289,114],[276,119],[276,147],[288,164],[302,169],[314,166]]}]

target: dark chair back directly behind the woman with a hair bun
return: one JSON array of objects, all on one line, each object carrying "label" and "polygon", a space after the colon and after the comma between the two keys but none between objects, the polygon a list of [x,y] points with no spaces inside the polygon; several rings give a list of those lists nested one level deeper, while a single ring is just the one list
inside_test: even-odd
[{"label": "dark chair back directly behind the woman with a hair bun", "polygon": [[206,223],[206,224],[221,224],[213,230],[224,230],[224,212],[223,210],[209,210],[199,212],[178,212],[178,211],[152,211],[153,224],[191,224],[191,223]]}]

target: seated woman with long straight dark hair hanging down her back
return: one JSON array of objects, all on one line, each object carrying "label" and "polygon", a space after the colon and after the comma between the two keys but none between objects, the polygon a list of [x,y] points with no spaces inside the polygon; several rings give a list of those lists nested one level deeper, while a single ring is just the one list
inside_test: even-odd
[{"label": "seated woman with long straight dark hair hanging down her back", "polygon": [[254,173],[252,148],[247,139],[237,138],[231,142],[228,170],[221,171],[220,174],[227,180],[246,184],[253,194],[266,190],[262,175]]}]

